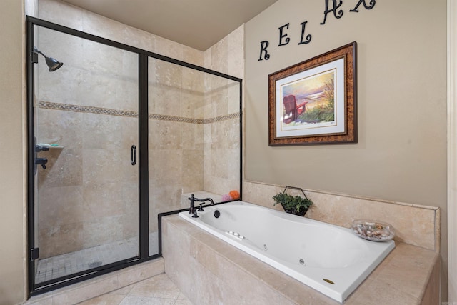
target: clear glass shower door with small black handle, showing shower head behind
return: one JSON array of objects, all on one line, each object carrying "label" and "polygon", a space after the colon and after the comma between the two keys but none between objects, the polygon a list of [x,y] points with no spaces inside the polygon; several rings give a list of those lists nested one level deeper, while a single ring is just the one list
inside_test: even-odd
[{"label": "clear glass shower door with small black handle, showing shower head behind", "polygon": [[[35,26],[36,285],[139,256],[139,56]],[[63,62],[51,71],[45,56]]]}]

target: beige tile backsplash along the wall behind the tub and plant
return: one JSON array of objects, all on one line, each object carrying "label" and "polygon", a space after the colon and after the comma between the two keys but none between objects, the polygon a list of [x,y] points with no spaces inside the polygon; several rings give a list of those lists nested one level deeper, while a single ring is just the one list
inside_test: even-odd
[{"label": "beige tile backsplash along the wall behind the tub and plant", "polygon": [[[281,206],[273,207],[271,197],[283,189],[283,186],[243,181],[243,200],[282,211]],[[439,210],[435,207],[318,191],[306,190],[306,194],[314,201],[306,217],[344,227],[351,226],[355,219],[386,221],[396,229],[396,241],[438,250]]]}]

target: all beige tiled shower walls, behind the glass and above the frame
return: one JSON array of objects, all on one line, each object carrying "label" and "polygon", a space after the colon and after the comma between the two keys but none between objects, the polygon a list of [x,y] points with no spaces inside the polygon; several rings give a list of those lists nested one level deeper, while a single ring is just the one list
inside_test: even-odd
[{"label": "all beige tiled shower walls, behind the glass and above the frame", "polygon": [[[243,64],[243,27],[203,53],[61,1],[39,1],[39,18],[242,78],[238,74],[243,70],[236,71]],[[39,169],[44,181],[39,201],[46,203],[39,207],[39,224],[44,224],[40,257],[136,236],[136,167],[109,166],[129,159],[130,146],[137,143],[136,103],[131,103],[138,99],[136,57],[111,56],[112,50],[64,34],[39,35],[41,51],[71,69],[79,67],[76,78],[64,68],[40,72],[36,84],[45,90],[36,98],[42,135],[37,141],[65,146],[39,153],[49,159],[48,169]],[[108,59],[106,66],[96,55]],[[119,78],[127,79],[124,85],[116,85]],[[87,90],[79,90],[81,85]],[[116,96],[119,103],[107,96]],[[185,207],[180,204],[183,192],[239,189],[239,109],[239,87],[233,81],[150,60],[151,232],[157,213]],[[99,174],[91,172],[100,166],[106,167]]]}]

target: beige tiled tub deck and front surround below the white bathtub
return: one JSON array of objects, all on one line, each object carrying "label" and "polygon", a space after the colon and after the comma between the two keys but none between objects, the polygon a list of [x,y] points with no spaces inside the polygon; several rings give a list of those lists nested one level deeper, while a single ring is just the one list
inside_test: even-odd
[{"label": "beige tiled tub deck and front surround below the white bathtub", "polygon": [[[165,272],[193,304],[340,304],[177,215],[162,234]],[[345,304],[438,304],[439,254],[396,244]]]}]

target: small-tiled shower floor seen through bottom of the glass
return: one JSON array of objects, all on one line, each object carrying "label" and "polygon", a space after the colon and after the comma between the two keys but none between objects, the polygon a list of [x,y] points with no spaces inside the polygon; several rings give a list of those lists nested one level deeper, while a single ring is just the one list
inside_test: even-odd
[{"label": "small-tiled shower floor seen through bottom of the glass", "polygon": [[[46,259],[39,259],[35,283],[39,284],[61,276],[68,276],[123,259],[129,259],[138,256],[138,251],[138,238],[134,237]],[[149,254],[157,253],[159,253],[159,239],[157,232],[154,232],[149,234]]]}]

